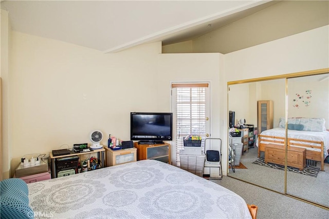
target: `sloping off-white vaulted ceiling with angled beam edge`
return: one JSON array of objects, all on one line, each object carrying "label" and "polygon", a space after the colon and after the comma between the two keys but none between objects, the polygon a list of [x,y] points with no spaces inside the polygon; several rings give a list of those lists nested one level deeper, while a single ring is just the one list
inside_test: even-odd
[{"label": "sloping off-white vaulted ceiling with angled beam edge", "polygon": [[[281,2],[41,0],[1,1],[1,9],[8,11],[12,30],[117,52],[144,43],[162,41],[162,45],[170,45],[191,41]],[[309,25],[307,28],[312,29]],[[287,31],[288,35],[306,31],[291,30]],[[257,44],[254,38],[253,44]],[[266,40],[273,38],[259,43]],[[248,46],[239,45],[239,48]]]}]

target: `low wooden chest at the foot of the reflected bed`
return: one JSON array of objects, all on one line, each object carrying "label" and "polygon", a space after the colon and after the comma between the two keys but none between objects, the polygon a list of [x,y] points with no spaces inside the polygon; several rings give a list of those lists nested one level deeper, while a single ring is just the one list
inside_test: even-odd
[{"label": "low wooden chest at the foot of the reflected bed", "polygon": [[[268,144],[265,146],[265,163],[284,165],[285,150],[282,145]],[[287,152],[287,166],[303,170],[306,166],[306,149],[290,147]]]}]

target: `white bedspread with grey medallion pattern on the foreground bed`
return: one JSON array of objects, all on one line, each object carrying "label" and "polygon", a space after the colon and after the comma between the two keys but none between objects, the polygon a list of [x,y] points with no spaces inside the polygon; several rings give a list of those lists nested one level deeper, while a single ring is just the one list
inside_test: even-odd
[{"label": "white bedspread with grey medallion pattern on the foreground bed", "polygon": [[28,188],[34,214],[52,218],[251,218],[239,195],[155,160],[53,178]]}]

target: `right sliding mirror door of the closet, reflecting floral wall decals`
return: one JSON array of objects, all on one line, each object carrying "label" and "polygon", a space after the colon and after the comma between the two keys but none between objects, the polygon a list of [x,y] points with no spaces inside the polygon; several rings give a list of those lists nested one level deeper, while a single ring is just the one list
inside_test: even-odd
[{"label": "right sliding mirror door of the closet, reflecting floral wall decals", "polygon": [[[329,207],[329,74],[287,79],[287,194]],[[305,141],[299,141],[302,138]]]}]

